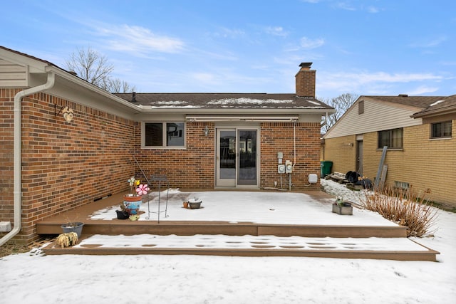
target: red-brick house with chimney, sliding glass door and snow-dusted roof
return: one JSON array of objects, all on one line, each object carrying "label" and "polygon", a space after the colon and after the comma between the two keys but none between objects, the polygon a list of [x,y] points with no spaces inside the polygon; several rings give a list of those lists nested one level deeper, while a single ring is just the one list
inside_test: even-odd
[{"label": "red-brick house with chimney, sliding glass door and snow-dusted roof", "polygon": [[320,172],[321,118],[334,110],[316,100],[310,66],[293,94],[113,95],[0,46],[0,221],[33,241],[37,221],[126,191],[142,172],[180,189],[319,189],[308,177]]}]

